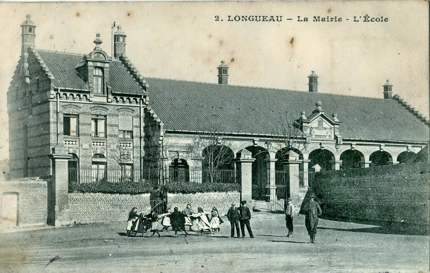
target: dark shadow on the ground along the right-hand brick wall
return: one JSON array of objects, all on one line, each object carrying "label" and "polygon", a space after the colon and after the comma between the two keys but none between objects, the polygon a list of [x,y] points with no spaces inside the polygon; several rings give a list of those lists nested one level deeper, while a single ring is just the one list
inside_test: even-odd
[{"label": "dark shadow on the ground along the right-hand brick wall", "polygon": [[[339,221],[339,219],[337,219],[336,221]],[[350,221],[344,221],[344,222],[350,222]],[[367,233],[378,233],[378,234],[420,235],[420,236],[430,235],[428,225],[411,225],[411,224],[387,223],[387,222],[376,223],[376,222],[369,222],[369,221],[359,221],[357,219],[354,219],[353,222],[357,224],[378,225],[378,226],[369,227],[369,228],[323,228],[323,227],[318,227],[318,228],[332,229],[336,231],[367,232]]]}]

